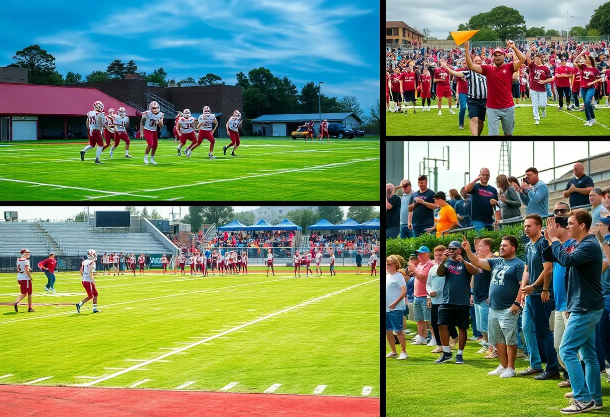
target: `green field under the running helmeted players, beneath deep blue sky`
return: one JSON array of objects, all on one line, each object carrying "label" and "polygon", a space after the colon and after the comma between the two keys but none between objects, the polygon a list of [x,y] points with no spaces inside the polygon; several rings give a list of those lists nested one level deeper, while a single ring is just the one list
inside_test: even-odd
[{"label": "green field under the running helmeted players, beneath deep blue sky", "polygon": [[0,145],[2,198],[11,201],[373,201],[379,199],[379,138],[330,142],[242,138],[238,157],[223,156],[228,139],[217,140],[190,159],[178,157],[176,143],[163,140],[144,165],[146,143],[124,143],[110,159],[109,149],[96,165],[95,149],[82,162],[84,141],[37,141]]}]

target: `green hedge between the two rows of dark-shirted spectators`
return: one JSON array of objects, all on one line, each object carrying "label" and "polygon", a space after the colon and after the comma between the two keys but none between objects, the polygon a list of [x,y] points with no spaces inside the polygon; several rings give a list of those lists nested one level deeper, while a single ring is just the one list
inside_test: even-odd
[{"label": "green hedge between the two rows of dark-shirted spectators", "polygon": [[489,232],[489,230],[484,230],[479,233],[476,233],[475,230],[468,230],[467,232],[461,233],[453,233],[452,235],[445,235],[445,237],[437,238],[436,235],[431,235],[426,233],[417,238],[407,238],[407,239],[388,239],[386,240],[386,256],[387,255],[401,255],[405,260],[409,258],[409,256],[420,248],[420,246],[427,246],[430,249],[430,252],[438,246],[439,244],[443,244],[447,246],[451,241],[457,240],[459,242],[462,241],[462,236],[466,233],[466,238],[470,241],[470,246],[474,247],[475,237],[478,235],[481,238],[492,238],[493,239],[493,248],[492,252],[498,251],[500,248],[500,241],[504,235],[512,235],[519,240],[519,248],[517,248],[517,256],[522,257],[523,252],[525,250],[525,245],[522,244],[523,238],[523,225],[518,224],[515,226],[504,226],[498,232]]}]

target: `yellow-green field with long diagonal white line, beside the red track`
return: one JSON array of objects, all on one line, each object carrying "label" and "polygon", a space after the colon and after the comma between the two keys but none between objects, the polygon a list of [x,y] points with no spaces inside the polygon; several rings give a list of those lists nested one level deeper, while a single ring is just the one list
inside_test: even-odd
[{"label": "yellow-green field with long diagonal white line, beside the red track", "polygon": [[[50,294],[35,273],[34,302],[48,304],[0,305],[0,383],[52,376],[35,384],[220,391],[238,382],[226,391],[243,393],[279,383],[274,393],[326,385],[322,395],[379,397],[379,280],[326,271],[97,276],[102,312],[88,302],[80,315],[52,304],[85,296],[77,273],[56,274]],[[0,302],[17,293],[15,274],[0,274]]]}]

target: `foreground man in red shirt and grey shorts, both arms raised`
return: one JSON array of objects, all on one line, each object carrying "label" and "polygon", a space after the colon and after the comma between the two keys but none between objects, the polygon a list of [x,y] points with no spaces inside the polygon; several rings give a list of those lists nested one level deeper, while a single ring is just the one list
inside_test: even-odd
[{"label": "foreground man in red shirt and grey shorts, both arms raised", "polygon": [[[466,51],[470,51],[470,43],[465,42]],[[487,78],[487,126],[489,135],[500,134],[500,122],[504,135],[510,136],[515,130],[515,105],[512,102],[512,73],[519,71],[525,62],[525,55],[517,49],[514,41],[506,41],[517,57],[514,62],[504,63],[502,48],[493,50],[493,65],[478,65],[472,62],[470,54],[466,54],[466,63],[470,70],[483,74]]]}]

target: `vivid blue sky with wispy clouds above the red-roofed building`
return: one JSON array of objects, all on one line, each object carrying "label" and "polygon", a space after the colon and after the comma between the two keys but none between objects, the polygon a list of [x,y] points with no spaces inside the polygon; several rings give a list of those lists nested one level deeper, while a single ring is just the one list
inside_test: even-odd
[{"label": "vivid blue sky with wispy clouds above the red-roofed building", "polygon": [[[23,18],[21,18],[23,16]],[[365,0],[149,0],[75,2],[5,0],[0,66],[38,43],[57,71],[90,74],[113,59],[139,71],[162,66],[170,79],[207,73],[235,84],[235,74],[265,66],[300,89],[357,96],[363,109],[379,97],[379,2]],[[368,113],[368,112],[367,112]]]}]

